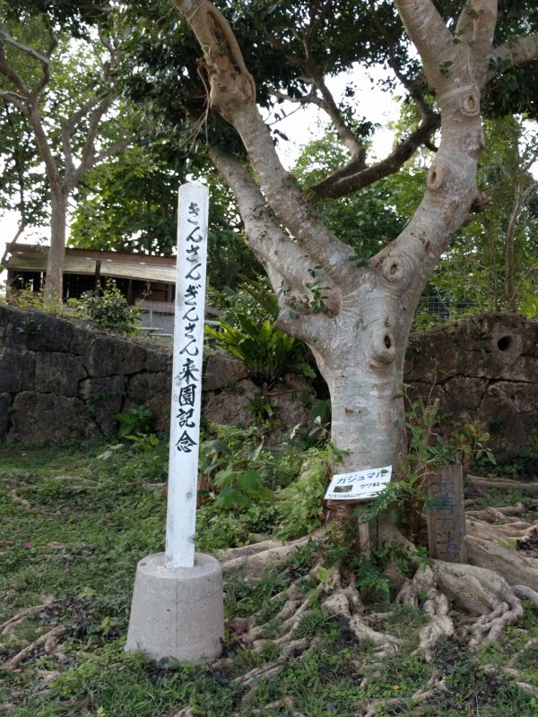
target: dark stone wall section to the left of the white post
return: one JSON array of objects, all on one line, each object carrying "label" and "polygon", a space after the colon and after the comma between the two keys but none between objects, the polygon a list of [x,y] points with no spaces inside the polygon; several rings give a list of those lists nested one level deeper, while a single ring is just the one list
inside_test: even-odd
[{"label": "dark stone wall section to the left of the white post", "polygon": [[168,426],[171,350],[0,305],[0,440],[108,435],[145,403]]}]

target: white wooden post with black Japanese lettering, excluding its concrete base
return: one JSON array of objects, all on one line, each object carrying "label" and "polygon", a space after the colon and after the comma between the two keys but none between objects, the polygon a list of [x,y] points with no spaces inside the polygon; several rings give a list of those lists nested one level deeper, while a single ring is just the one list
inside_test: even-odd
[{"label": "white wooden post with black Japanese lettering, excluding its concrete base", "polygon": [[165,565],[195,565],[209,191],[179,187]]}]

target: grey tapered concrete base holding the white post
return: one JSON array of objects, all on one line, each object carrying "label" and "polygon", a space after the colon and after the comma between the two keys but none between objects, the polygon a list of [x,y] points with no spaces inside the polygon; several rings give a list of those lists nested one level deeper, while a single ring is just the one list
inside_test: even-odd
[{"label": "grey tapered concrete base holding the white post", "polygon": [[194,567],[169,568],[164,553],[136,567],[126,652],[154,661],[210,661],[221,654],[224,609],[221,564],[195,554]]}]

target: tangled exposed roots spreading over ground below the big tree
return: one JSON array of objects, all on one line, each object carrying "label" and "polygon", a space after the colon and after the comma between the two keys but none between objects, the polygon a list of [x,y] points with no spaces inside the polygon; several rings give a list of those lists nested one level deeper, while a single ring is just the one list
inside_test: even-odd
[{"label": "tangled exposed roots spreading over ground below the big tree", "polygon": [[[468,565],[440,560],[430,561],[428,566],[419,565],[412,542],[390,523],[380,522],[377,525],[379,542],[398,544],[407,552],[415,570],[411,579],[402,580],[400,575],[396,602],[420,606],[429,616],[428,624],[419,631],[419,645],[415,653],[431,662],[436,656],[439,640],[456,633],[469,635],[472,648],[498,641],[506,628],[523,616],[522,599],[530,600],[538,607],[538,560],[527,557],[518,549],[525,543],[532,547],[534,541],[538,542],[536,526],[522,520],[524,513],[525,506],[522,504],[471,511],[467,521]],[[319,531],[314,537],[319,539],[323,536],[324,532]],[[247,576],[256,577],[265,566],[282,563],[291,557],[308,540],[312,540],[312,536],[288,544],[263,540],[245,548],[226,551],[222,556],[223,570],[243,569]],[[353,575],[342,574],[339,569],[333,568],[328,579],[325,570],[321,582],[317,569],[318,566],[315,566],[310,571],[310,578],[317,577],[317,580],[312,581],[316,587],[307,594],[304,588],[300,589],[299,583],[292,583],[285,595],[272,598],[282,604],[282,608],[270,624],[254,625],[250,619],[236,622],[236,628],[240,628],[241,644],[255,654],[263,654],[268,645],[278,648],[278,657],[236,678],[236,682],[246,688],[243,705],[254,700],[261,680],[274,677],[291,658],[304,659],[316,646],[318,638],[304,638],[299,633],[302,618],[314,605],[339,618],[340,624],[345,625],[359,643],[374,644],[377,660],[393,654],[403,644],[401,639],[377,629],[386,615],[368,613],[360,592],[354,586]],[[390,570],[387,573],[390,574]],[[462,618],[462,613],[466,617]],[[456,615],[459,616],[457,627]],[[268,635],[271,635],[270,639]],[[224,667],[232,662],[228,658],[219,661],[219,665]],[[534,694],[534,687],[525,685],[516,672],[513,666],[507,666],[507,677],[516,678],[519,687]],[[430,684],[412,695],[412,700],[420,704],[444,690],[447,690],[447,685],[436,672]],[[391,697],[356,706],[361,717],[371,717],[381,704],[386,708],[400,702],[398,697]],[[292,701],[282,699],[274,704],[274,709],[278,708],[289,714],[299,714],[294,712]]]}]

